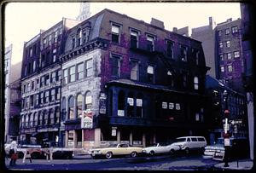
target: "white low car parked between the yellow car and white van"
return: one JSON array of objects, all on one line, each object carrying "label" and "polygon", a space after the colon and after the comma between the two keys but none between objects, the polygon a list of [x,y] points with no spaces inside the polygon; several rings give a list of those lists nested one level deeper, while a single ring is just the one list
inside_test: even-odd
[{"label": "white low car parked between the yellow car and white van", "polygon": [[178,147],[177,145],[156,143],[152,147],[144,147],[143,153],[153,156],[154,154],[159,154],[159,153],[173,154],[178,150],[180,150],[180,147]]}]

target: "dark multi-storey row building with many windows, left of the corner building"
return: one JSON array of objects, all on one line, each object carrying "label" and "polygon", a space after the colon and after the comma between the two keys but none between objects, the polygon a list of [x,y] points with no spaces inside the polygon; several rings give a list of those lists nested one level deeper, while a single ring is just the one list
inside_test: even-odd
[{"label": "dark multi-storey row building with many windows, left of the corner building", "polygon": [[20,141],[55,141],[60,131],[61,64],[67,30],[79,22],[63,18],[24,44],[21,71]]}]

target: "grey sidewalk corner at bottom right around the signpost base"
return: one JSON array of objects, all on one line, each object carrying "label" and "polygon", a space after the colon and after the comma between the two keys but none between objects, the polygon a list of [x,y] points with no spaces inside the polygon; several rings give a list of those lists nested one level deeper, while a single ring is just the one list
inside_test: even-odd
[{"label": "grey sidewalk corner at bottom right around the signpost base", "polygon": [[223,170],[251,170],[255,167],[250,159],[238,160],[238,167],[236,161],[229,162],[229,165],[229,167],[224,167],[224,163],[220,163],[215,164],[214,167]]}]

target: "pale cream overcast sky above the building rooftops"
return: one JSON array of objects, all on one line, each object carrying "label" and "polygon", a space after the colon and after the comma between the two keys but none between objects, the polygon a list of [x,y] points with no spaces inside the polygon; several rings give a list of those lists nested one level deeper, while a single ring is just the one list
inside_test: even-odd
[{"label": "pale cream overcast sky above the building rooftops", "polygon": [[[13,44],[12,64],[22,61],[24,42],[62,20],[76,19],[80,3],[8,3],[5,9],[5,46]],[[94,15],[102,9],[112,9],[137,20],[150,23],[151,18],[162,20],[166,30],[173,27],[207,26],[208,18],[216,23],[241,18],[239,3],[90,3]]]}]

